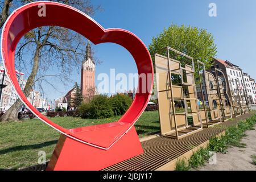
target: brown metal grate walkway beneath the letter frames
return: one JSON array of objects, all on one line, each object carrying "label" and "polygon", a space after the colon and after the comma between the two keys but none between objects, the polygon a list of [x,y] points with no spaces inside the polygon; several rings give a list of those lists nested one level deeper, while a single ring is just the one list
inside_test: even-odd
[{"label": "brown metal grate walkway beneath the letter frames", "polygon": [[105,168],[104,170],[152,171],[188,152],[193,147],[206,142],[210,137],[222,133],[224,130],[223,128],[212,127],[179,140],[167,137],[150,139],[142,142],[143,154]]}]

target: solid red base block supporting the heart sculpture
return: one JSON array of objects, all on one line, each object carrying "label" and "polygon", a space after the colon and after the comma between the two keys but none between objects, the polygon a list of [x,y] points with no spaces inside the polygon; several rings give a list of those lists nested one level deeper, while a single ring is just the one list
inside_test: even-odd
[{"label": "solid red base block supporting the heart sculpture", "polygon": [[[94,130],[94,134],[97,133],[101,138],[105,138],[105,135],[108,136],[111,130],[114,133],[117,127],[123,126]],[[83,128],[86,129],[86,127]],[[83,133],[87,135],[88,130],[81,131],[81,128],[79,130],[80,135]],[[77,142],[77,140],[61,134],[47,170],[101,170],[142,153],[141,142],[139,142],[134,126],[121,139],[114,143],[109,150],[89,146],[88,144]]]}]

